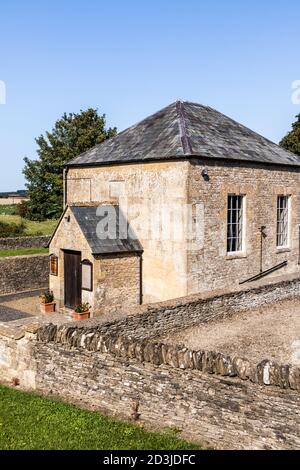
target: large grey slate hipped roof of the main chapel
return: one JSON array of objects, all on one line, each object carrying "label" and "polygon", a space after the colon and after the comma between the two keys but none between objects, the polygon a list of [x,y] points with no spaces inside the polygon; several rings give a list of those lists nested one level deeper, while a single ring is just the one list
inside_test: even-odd
[{"label": "large grey slate hipped roof of the main chapel", "polygon": [[67,166],[192,157],[300,165],[300,157],[218,111],[177,101],[79,155]]}]

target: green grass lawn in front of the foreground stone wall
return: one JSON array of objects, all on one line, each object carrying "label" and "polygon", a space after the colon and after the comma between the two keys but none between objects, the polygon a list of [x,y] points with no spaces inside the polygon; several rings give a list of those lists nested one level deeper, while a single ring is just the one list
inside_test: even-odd
[{"label": "green grass lawn in front of the foreground stone wall", "polygon": [[0,449],[26,450],[193,450],[171,433],[141,427],[98,413],[0,386]]}]

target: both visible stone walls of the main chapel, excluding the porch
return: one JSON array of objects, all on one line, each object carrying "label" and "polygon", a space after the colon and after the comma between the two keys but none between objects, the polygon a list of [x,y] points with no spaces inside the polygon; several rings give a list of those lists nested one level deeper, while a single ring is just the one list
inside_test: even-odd
[{"label": "both visible stone walls of the main chapel, excluding the porch", "polygon": [[[202,176],[209,173],[209,181]],[[121,198],[112,191],[123,185]],[[260,271],[260,227],[267,227],[263,241],[263,269],[288,261],[288,265],[264,279],[278,275],[299,274],[300,172],[249,162],[223,162],[208,159],[191,161],[136,163],[93,168],[70,168],[67,200],[69,204],[118,203],[128,206],[127,218],[143,248],[144,302],[157,302],[213,290],[238,289],[239,282]],[[227,256],[227,197],[244,194],[245,251]],[[290,240],[288,249],[276,247],[277,196],[290,197]],[[135,224],[136,205],[140,205],[139,223]],[[198,207],[200,227],[196,249],[188,240],[164,239],[163,222],[158,239],[147,230],[149,222],[163,207],[183,209]],[[155,210],[153,209],[155,208]],[[177,218],[178,232],[186,234]],[[182,229],[182,230],[181,230]],[[249,284],[251,285],[251,284]]]}]

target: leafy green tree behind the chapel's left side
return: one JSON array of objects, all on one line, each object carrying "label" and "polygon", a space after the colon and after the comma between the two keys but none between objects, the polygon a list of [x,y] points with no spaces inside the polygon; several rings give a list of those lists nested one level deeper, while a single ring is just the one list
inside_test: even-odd
[{"label": "leafy green tree behind the chapel's left side", "polygon": [[30,202],[27,217],[53,219],[63,207],[63,166],[72,158],[116,135],[116,128],[106,128],[105,114],[89,108],[79,114],[64,114],[51,132],[36,139],[38,159],[24,159],[23,173]]}]

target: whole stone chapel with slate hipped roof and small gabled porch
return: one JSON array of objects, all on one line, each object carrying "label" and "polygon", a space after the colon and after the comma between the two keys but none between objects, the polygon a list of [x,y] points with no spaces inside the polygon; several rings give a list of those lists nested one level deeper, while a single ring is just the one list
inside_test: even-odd
[{"label": "whole stone chapel with slate hipped roof and small gabled porch", "polygon": [[173,103],[74,158],[64,179],[50,242],[60,307],[88,301],[96,316],[300,271],[300,158],[209,107]]}]

